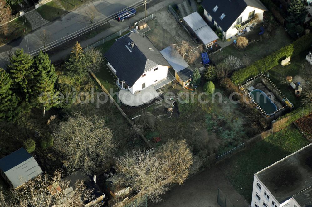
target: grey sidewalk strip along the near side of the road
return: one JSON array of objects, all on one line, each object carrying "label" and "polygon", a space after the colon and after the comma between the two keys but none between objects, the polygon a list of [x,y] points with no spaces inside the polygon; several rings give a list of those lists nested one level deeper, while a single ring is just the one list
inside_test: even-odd
[{"label": "grey sidewalk strip along the near side of the road", "polygon": [[[147,8],[147,16],[156,12],[156,18],[157,18],[157,11],[158,10],[163,9],[164,7],[168,7],[170,3],[179,3],[179,2],[183,2],[183,0],[164,0],[164,1],[161,1],[158,4]],[[134,17],[131,17],[129,19],[124,20],[124,22],[118,22],[116,20],[111,20],[109,22],[109,24],[111,26],[109,29],[106,29],[105,31],[97,34],[96,36],[94,36],[88,40],[81,41],[80,45],[83,48],[85,48],[89,45],[92,45],[95,42],[98,42],[98,41],[104,39],[105,37],[110,36],[110,35],[118,32],[118,31],[126,28],[127,26],[134,26],[135,22],[142,20],[144,17],[145,17],[145,12],[141,12],[141,13],[138,13],[137,15],[135,15]],[[50,56],[51,62],[55,63],[59,60],[62,60],[63,58],[66,58],[67,55],[70,54],[71,49],[72,48],[70,47],[70,48],[67,48],[67,49],[64,49],[64,50],[58,52],[55,55],[51,55]]]}]

